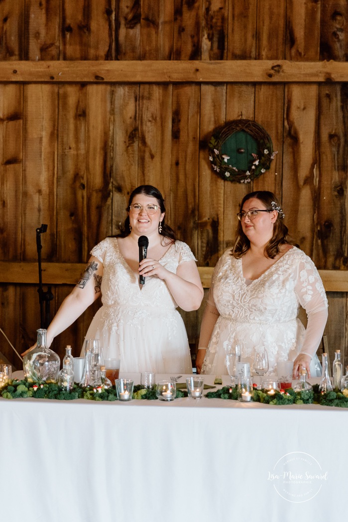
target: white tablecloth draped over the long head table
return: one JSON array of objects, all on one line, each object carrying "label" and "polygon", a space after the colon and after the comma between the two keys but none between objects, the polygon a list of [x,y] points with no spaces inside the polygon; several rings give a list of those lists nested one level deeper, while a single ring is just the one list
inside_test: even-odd
[{"label": "white tablecloth draped over the long head table", "polygon": [[[121,376],[140,382],[140,374]],[[156,375],[156,382],[163,377]],[[213,381],[205,376],[207,384]],[[346,518],[345,409],[205,397],[0,398],[0,422],[1,520]],[[298,479],[293,490],[274,479],[284,466],[287,478]],[[308,483],[299,471],[316,477]]]}]

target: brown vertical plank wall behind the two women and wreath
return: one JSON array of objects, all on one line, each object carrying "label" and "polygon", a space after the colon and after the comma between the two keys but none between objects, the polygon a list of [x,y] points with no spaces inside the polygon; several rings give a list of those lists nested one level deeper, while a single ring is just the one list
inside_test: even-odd
[{"label": "brown vertical plank wall behind the two women and wreath", "polygon": [[[0,61],[345,62],[347,27],[345,0],[2,0]],[[43,260],[85,262],[119,231],[133,188],[149,183],[199,266],[233,243],[242,197],[269,189],[318,268],[346,270],[347,94],[336,82],[2,82],[0,261],[34,262],[35,229],[47,223]],[[278,150],[247,185],[216,176],[207,148],[214,127],[241,117],[263,125]],[[70,289],[53,286],[52,315]],[[345,352],[347,294],[328,296],[330,352]],[[78,354],[97,307],[55,340],[59,354],[66,343]],[[16,348],[30,346],[37,287],[1,283],[0,311]],[[183,316],[194,341],[201,310]],[[0,352],[20,366],[1,334]]]}]

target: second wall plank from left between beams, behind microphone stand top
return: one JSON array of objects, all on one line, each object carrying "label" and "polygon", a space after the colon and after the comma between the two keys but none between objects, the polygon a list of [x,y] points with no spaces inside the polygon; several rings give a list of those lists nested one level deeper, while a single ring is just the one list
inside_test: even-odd
[{"label": "second wall plank from left between beams, behind microphone stand top", "polygon": [[22,259],[26,261],[37,259],[35,231],[41,223],[48,225],[45,259],[53,260],[56,253],[57,93],[56,85],[24,88]]}]

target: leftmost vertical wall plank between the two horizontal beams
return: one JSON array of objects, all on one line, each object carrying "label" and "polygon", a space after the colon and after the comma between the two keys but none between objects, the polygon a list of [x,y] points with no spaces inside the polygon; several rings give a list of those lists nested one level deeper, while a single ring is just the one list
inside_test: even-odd
[{"label": "leftmost vertical wall plank between the two horizontal beams", "polygon": [[22,125],[23,86],[0,85],[0,259],[21,259]]}]

